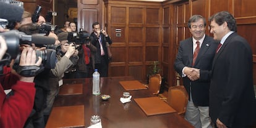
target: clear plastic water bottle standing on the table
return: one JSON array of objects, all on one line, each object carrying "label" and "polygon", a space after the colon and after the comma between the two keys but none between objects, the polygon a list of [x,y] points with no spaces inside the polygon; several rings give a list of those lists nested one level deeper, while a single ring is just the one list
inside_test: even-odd
[{"label": "clear plastic water bottle standing on the table", "polygon": [[95,69],[93,73],[93,95],[100,95],[100,73]]}]

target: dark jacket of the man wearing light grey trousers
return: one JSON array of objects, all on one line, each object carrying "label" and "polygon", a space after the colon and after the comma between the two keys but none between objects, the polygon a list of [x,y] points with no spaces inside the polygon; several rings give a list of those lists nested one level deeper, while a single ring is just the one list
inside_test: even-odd
[{"label": "dark jacket of the man wearing light grey trousers", "polygon": [[[215,56],[217,43],[210,36],[205,36],[200,51],[198,52],[197,59],[195,60],[194,68],[200,70],[211,70],[211,64],[213,57]],[[181,41],[179,44],[179,50],[177,53],[176,60],[174,62],[174,68],[182,76],[182,69],[185,66],[192,67],[193,61],[193,41],[192,38]],[[188,94],[191,94],[192,100],[197,106],[208,106],[209,105],[209,88],[210,81],[190,81],[189,78],[183,78],[184,86]],[[191,98],[191,97],[190,97]]]}]

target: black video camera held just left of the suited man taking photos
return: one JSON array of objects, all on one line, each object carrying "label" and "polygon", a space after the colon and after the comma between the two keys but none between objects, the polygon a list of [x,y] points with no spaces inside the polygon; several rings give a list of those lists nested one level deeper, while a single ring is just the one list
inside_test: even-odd
[{"label": "black video camera held just left of the suited man taking photos", "polygon": [[90,34],[85,31],[79,31],[79,33],[69,32],[67,40],[75,42],[75,44],[88,44],[90,42]]}]

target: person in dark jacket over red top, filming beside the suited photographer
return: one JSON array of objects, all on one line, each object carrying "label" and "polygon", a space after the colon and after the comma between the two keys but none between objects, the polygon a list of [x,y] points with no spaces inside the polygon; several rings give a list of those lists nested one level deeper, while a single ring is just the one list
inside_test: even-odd
[{"label": "person in dark jacket over red top, filming beside the suited photographer", "polygon": [[95,68],[95,52],[97,48],[90,42],[90,34],[87,31],[81,31],[83,35],[88,35],[79,46],[79,60],[77,62],[77,73],[75,78],[90,78]]}]

